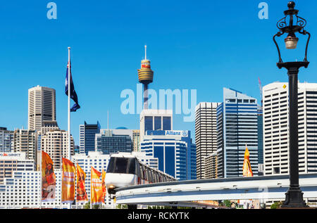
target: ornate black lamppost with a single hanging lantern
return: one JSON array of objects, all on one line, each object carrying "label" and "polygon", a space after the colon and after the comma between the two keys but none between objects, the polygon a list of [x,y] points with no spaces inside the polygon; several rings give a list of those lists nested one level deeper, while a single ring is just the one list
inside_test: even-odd
[{"label": "ornate black lamppost with a single hanging lantern", "polygon": [[[290,189],[285,194],[285,202],[283,203],[282,208],[305,208],[308,206],[304,202],[302,190],[299,188],[297,75],[299,72],[299,68],[307,68],[309,65],[309,62],[307,60],[307,48],[309,45],[311,34],[304,30],[304,27],[306,26],[306,20],[297,15],[298,10],[294,9],[294,1],[290,1],[287,6],[288,10],[284,11],[285,18],[282,18],[277,23],[277,27],[280,31],[273,37],[273,41],[278,48],[278,68],[286,68],[289,79]],[[288,35],[285,38],[286,48],[296,49],[297,42],[299,40],[295,35],[295,33],[297,32],[303,35],[308,34],[305,58],[303,61],[299,62],[283,62],[280,56],[278,43],[275,41],[275,37],[280,37],[282,36],[282,34],[287,33]]]}]

